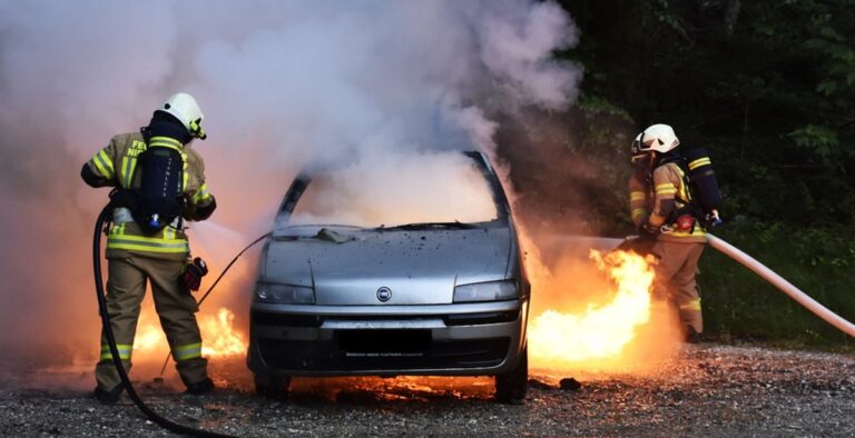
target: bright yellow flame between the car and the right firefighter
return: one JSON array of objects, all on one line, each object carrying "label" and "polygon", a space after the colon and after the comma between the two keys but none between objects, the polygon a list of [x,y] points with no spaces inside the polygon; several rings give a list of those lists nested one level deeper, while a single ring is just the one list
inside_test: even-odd
[{"label": "bright yellow flame between the car and the right firefighter", "polygon": [[652,260],[627,251],[590,258],[611,280],[611,301],[589,303],[581,313],[549,309],[529,326],[529,355],[535,367],[574,368],[581,362],[619,357],[638,329],[650,320]]}]

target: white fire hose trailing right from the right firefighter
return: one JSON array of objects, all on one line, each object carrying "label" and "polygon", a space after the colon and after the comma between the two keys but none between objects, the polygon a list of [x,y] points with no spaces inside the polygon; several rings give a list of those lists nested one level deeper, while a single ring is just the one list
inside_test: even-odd
[{"label": "white fire hose trailing right from the right firefighter", "polygon": [[816,302],[816,300],[808,297],[805,292],[798,290],[798,288],[793,286],[789,281],[785,280],[783,277],[775,273],[772,269],[767,268],[759,261],[755,260],[751,256],[748,256],[747,253],[738,250],[733,245],[709,233],[707,235],[707,241],[709,242],[710,247],[743,263],[743,266],[753,270],[754,273],[760,276],[763,279],[780,289],[784,293],[788,295],[789,298],[796,300],[799,305],[805,307],[807,310],[810,310],[814,315],[823,318],[826,322],[841,329],[841,331],[845,332],[846,335],[855,338],[855,325],[841,318],[837,313],[828,310],[825,306]]}]

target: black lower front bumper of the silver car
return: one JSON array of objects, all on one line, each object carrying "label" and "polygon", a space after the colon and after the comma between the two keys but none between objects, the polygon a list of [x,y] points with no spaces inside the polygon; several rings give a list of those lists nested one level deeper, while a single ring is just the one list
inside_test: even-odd
[{"label": "black lower front bumper of the silver car", "polygon": [[282,370],[361,371],[495,367],[510,338],[432,340],[430,330],[337,330],[334,344],[258,340],[262,359]]}]

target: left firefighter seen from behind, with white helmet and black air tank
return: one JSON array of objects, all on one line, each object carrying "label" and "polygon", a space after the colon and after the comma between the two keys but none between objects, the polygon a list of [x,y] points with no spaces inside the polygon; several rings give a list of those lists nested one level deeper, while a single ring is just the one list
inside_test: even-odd
[{"label": "left firefighter seen from behind, with white helmet and black air tank", "polygon": [[[177,93],[155,111],[148,127],[140,132],[115,136],[81,171],[89,186],[117,189],[107,239],[107,308],[122,362],[129,369],[140,302],[148,281],[176,368],[189,394],[214,389],[207,360],[202,357],[202,336],[195,316],[198,306],[189,292],[190,288],[198,289],[207,269],[199,259],[195,263],[189,261],[189,245],[183,231],[185,220],[207,219],[216,208],[205,183],[202,157],[190,146],[193,139],[206,137],[202,119],[196,100],[190,94]],[[145,153],[147,151],[151,153]],[[164,158],[157,165],[153,163],[155,152]],[[151,202],[146,202],[145,193],[140,193],[144,179],[157,178],[158,169],[147,169],[149,166],[163,167],[159,171],[165,180],[176,181],[173,195],[167,197],[176,209],[174,218],[166,211],[151,215]],[[146,182],[151,183],[164,185],[161,191],[167,191],[164,182]],[[122,391],[111,360],[107,339],[101,334],[95,396],[105,404],[115,404]]]}]

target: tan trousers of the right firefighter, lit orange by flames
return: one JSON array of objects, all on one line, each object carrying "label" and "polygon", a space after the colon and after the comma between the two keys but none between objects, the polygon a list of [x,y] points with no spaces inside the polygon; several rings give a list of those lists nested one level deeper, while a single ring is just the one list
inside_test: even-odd
[{"label": "tan trousers of the right firefighter, lit orange by flames", "polygon": [[680,325],[704,332],[700,296],[696,275],[706,243],[657,240],[653,255],[659,258],[653,279],[653,297],[669,299],[677,308]]}]

